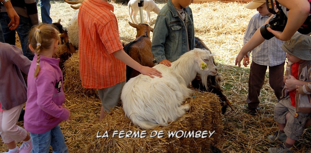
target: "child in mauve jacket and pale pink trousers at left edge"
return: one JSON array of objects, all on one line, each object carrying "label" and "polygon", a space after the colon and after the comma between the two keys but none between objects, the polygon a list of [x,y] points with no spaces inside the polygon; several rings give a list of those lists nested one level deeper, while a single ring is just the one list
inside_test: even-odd
[{"label": "child in mauve jacket and pale pink trousers at left edge", "polygon": [[[8,153],[29,153],[31,139],[27,131],[16,125],[27,100],[26,83],[21,71],[28,73],[31,61],[16,46],[0,42],[0,135]],[[16,142],[23,141],[20,148]]]}]

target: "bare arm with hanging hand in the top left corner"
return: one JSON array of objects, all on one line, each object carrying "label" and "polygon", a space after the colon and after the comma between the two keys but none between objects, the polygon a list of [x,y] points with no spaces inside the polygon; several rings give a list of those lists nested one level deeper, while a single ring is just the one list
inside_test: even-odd
[{"label": "bare arm with hanging hand in the top left corner", "polygon": [[[2,2],[3,0],[0,1]],[[10,30],[15,30],[19,25],[19,16],[15,12],[11,1],[7,1],[3,5],[5,6],[5,8],[7,8],[7,14],[11,18],[11,22],[7,26],[10,28]]]}]

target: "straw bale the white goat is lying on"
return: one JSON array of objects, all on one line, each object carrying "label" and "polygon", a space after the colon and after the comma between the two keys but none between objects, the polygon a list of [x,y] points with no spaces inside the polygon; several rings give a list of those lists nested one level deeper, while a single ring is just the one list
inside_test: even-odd
[{"label": "straw bale the white goat is lying on", "polygon": [[[217,144],[222,135],[222,114],[219,98],[212,93],[195,92],[192,98],[186,100],[190,104],[190,110],[181,118],[170,122],[167,127],[158,126],[155,129],[146,130],[146,137],[119,138],[112,137],[114,131],[143,132],[144,129],[136,127],[125,116],[122,107],[113,109],[105,116],[102,123],[93,125],[92,131],[100,131],[99,136],[107,131],[109,137],[100,137],[87,147],[86,152],[206,152],[209,144]],[[164,131],[163,137],[150,137],[152,131]],[[214,131],[209,138],[193,137],[169,137],[169,132],[175,131]],[[152,133],[153,135],[155,133]],[[181,133],[178,134],[181,136]],[[125,136],[125,135],[123,135]]]}]

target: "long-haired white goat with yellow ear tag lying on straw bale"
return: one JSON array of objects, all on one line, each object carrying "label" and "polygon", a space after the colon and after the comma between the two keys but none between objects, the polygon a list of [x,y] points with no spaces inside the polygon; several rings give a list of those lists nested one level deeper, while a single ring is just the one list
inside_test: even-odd
[{"label": "long-haired white goat with yellow ear tag lying on straw bale", "polygon": [[[167,126],[189,110],[189,104],[182,103],[193,90],[189,83],[199,73],[202,80],[208,75],[216,75],[217,67],[209,50],[193,49],[172,62],[171,67],[163,64],[154,66],[162,77],[151,78],[138,75],[123,87],[121,100],[125,114],[142,128],[152,129],[157,125]],[[206,86],[206,81],[204,82]]]}]

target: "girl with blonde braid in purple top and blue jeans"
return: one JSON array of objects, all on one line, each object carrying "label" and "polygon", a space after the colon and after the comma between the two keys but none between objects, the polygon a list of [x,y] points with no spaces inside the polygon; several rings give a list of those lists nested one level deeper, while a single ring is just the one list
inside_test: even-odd
[{"label": "girl with blonde braid in purple top and blue jeans", "polygon": [[58,125],[70,122],[70,111],[63,105],[63,73],[58,66],[59,35],[51,24],[33,27],[29,33],[29,48],[35,54],[27,80],[27,102],[24,126],[32,138],[32,152],[68,152],[63,132]]}]

